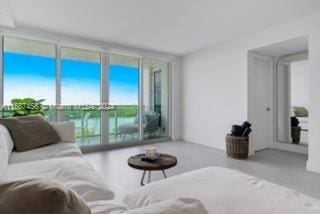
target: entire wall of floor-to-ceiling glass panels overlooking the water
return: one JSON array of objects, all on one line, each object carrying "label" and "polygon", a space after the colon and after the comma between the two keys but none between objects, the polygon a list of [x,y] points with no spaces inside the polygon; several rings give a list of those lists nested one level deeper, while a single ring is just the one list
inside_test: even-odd
[{"label": "entire wall of floor-to-ceiling glass panels overlooking the water", "polygon": [[169,62],[2,38],[4,105],[41,101],[48,120],[74,121],[80,146],[169,136]]}]

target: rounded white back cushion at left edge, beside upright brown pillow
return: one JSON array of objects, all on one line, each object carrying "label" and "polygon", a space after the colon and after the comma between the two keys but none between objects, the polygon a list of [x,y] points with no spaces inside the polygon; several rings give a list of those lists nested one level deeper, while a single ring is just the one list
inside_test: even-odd
[{"label": "rounded white back cushion at left edge, beside upright brown pillow", "polygon": [[0,176],[6,171],[9,157],[13,149],[13,142],[9,131],[0,124]]}]

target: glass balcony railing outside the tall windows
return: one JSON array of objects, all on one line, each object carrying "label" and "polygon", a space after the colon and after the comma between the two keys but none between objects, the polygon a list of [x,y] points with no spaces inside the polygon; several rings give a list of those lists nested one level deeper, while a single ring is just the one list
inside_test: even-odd
[{"label": "glass balcony railing outside the tall windows", "polygon": [[[44,117],[48,121],[74,121],[76,142],[80,146],[97,145],[101,143],[101,110],[76,109],[74,106],[56,110],[46,108]],[[13,111],[3,111],[3,117],[10,117]],[[59,114],[59,116],[58,116]],[[138,129],[125,138],[119,131],[119,126],[124,124],[137,124],[136,118],[139,114],[138,105],[115,105],[108,111],[109,115],[109,143],[135,140],[138,138]],[[125,134],[126,135],[126,134]]]}]

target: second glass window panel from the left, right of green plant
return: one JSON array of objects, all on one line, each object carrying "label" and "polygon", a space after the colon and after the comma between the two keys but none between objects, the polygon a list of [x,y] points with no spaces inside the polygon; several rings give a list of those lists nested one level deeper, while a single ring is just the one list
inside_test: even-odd
[{"label": "second glass window panel from the left, right of green plant", "polygon": [[60,120],[74,121],[80,146],[100,144],[100,53],[61,49]]}]

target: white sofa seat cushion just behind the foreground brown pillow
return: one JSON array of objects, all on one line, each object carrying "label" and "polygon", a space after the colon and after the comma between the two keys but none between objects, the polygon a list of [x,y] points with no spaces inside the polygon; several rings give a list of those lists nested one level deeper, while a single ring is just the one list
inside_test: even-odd
[{"label": "white sofa seat cushion just behind the foreground brown pillow", "polygon": [[86,202],[110,200],[113,191],[82,157],[9,164],[1,180],[52,179],[75,191]]}]

